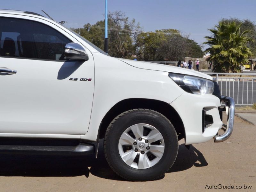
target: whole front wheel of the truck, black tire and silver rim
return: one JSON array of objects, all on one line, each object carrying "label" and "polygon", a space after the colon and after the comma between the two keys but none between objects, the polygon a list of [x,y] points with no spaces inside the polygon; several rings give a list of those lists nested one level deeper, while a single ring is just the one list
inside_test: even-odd
[{"label": "whole front wheel of the truck, black tire and silver rim", "polygon": [[104,139],[108,164],[127,180],[155,180],[167,172],[178,153],[178,137],[171,122],[149,109],[133,109],[117,116]]}]

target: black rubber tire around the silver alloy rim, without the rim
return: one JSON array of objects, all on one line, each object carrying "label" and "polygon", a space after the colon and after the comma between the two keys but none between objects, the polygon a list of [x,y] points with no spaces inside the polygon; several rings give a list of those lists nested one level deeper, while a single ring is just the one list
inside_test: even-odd
[{"label": "black rubber tire around the silver alloy rim, without the rim", "polygon": [[[164,152],[159,162],[152,167],[135,169],[126,164],[118,152],[121,135],[134,124],[149,124],[162,134]],[[109,124],[104,138],[104,153],[113,171],[124,179],[156,180],[172,167],[178,153],[178,137],[172,123],[162,114],[149,109],[132,109],[118,115]]]}]

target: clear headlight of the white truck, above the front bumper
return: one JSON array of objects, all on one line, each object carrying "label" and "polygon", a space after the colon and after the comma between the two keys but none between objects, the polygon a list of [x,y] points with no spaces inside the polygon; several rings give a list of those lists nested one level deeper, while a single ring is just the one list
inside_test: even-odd
[{"label": "clear headlight of the white truck, above the front bumper", "polygon": [[184,91],[199,95],[212,94],[214,84],[212,81],[196,76],[169,73],[169,77]]}]

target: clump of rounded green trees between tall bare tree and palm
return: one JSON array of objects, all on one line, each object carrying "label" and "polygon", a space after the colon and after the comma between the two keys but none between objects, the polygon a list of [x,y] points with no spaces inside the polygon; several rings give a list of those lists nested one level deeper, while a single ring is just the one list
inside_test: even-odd
[{"label": "clump of rounded green trees between tall bare tree and palm", "polygon": [[141,33],[136,42],[137,56],[142,60],[183,60],[184,57],[203,57],[201,47],[177,29],[161,29]]}]

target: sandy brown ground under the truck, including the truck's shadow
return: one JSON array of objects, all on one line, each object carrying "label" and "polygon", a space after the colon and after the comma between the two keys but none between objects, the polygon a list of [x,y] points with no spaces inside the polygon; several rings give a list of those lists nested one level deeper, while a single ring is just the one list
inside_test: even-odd
[{"label": "sandy brown ground under the truck, including the truck's shadow", "polygon": [[[163,178],[129,182],[98,159],[58,156],[0,156],[0,191],[204,191],[206,185],[256,191],[256,126],[235,117],[232,136],[222,143],[179,146],[176,162]],[[228,189],[224,191],[229,191]],[[232,190],[236,191],[236,190]]]}]

